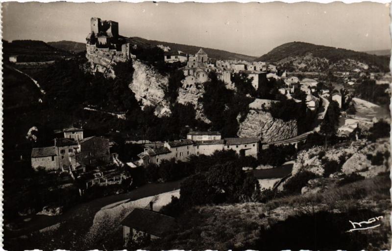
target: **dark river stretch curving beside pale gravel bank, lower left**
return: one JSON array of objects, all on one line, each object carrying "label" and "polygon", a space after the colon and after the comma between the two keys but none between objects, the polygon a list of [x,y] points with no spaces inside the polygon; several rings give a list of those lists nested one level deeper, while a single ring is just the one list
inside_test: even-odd
[{"label": "dark river stretch curving beside pale gravel bank, lower left", "polygon": [[[84,246],[84,235],[92,226],[94,216],[101,208],[123,200],[133,201],[179,189],[181,181],[147,184],[130,192],[78,204],[58,216],[34,215],[31,220],[24,223],[26,227],[22,230],[4,229],[4,249],[89,250]],[[40,231],[50,226],[58,227],[50,231]]]}]

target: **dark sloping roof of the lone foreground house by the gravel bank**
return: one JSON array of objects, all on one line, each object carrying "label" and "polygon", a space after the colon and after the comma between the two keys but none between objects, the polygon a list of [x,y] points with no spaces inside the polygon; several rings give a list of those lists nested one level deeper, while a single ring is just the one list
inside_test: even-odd
[{"label": "dark sloping roof of the lone foreground house by the gravel bank", "polygon": [[123,219],[121,225],[163,237],[165,232],[175,229],[177,224],[171,216],[152,210],[136,208]]}]

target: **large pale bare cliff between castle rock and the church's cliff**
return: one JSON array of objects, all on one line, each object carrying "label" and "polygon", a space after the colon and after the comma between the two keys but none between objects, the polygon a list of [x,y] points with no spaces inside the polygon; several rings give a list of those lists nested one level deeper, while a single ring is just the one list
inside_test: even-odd
[{"label": "large pale bare cliff between castle rock and the church's cliff", "polygon": [[153,67],[138,60],[133,60],[133,81],[129,88],[135,93],[142,108],[146,105],[155,106],[158,117],[171,114],[169,103],[165,100],[164,88],[168,85],[168,77],[157,72]]}]

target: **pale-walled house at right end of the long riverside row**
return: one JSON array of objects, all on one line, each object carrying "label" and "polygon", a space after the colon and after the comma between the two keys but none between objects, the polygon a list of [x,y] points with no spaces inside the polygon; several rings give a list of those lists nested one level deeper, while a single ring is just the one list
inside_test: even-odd
[{"label": "pale-walled house at right end of the long riverside row", "polygon": [[259,153],[259,138],[225,138],[225,150],[235,150],[240,156],[253,156]]}]

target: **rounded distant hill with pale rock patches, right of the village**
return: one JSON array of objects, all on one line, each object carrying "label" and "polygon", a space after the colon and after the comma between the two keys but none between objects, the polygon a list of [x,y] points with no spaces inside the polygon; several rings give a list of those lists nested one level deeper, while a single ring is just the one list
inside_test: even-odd
[{"label": "rounded distant hill with pale rock patches, right of the village", "polygon": [[290,71],[389,71],[389,57],[306,42],[282,44],[258,58]]}]

